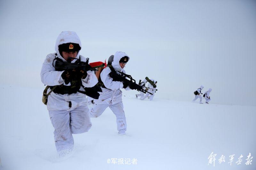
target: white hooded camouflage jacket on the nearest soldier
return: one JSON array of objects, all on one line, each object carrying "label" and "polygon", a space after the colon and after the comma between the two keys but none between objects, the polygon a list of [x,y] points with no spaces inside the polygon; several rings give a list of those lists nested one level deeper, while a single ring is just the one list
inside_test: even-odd
[{"label": "white hooded camouflage jacket on the nearest soldier", "polygon": [[[77,34],[75,32],[70,31],[64,31],[60,33],[59,37],[57,38],[56,45],[55,45],[55,51],[56,53],[51,53],[46,56],[46,59],[44,60],[42,70],[41,70],[41,81],[45,85],[49,86],[55,86],[55,85],[67,85],[69,86],[70,83],[65,84],[64,80],[61,77],[61,74],[64,71],[55,71],[55,68],[52,65],[52,62],[55,57],[60,58],[63,61],[66,61],[64,58],[61,57],[59,52],[59,45],[64,43],[77,43],[81,47],[81,41]],[[57,54],[57,55],[55,55]],[[76,58],[79,58],[79,52],[76,55]],[[71,63],[74,63],[76,60],[73,60]],[[81,61],[85,62],[86,59],[81,55]],[[55,63],[55,62],[54,62]],[[95,76],[93,71],[87,71],[87,77],[85,79],[82,79],[82,84],[85,87],[93,87],[98,83],[98,79]],[[80,88],[81,91],[84,91],[83,87]],[[50,91],[50,88],[48,89],[48,92]],[[48,93],[47,92],[47,93]],[[69,107],[69,101],[71,101],[72,106]],[[82,94],[80,92],[76,92],[73,94],[56,94],[52,92],[48,96],[48,102],[47,102],[47,109],[48,110],[73,110],[76,107],[79,107],[81,105],[86,105],[87,99],[85,97],[85,94]]]}]

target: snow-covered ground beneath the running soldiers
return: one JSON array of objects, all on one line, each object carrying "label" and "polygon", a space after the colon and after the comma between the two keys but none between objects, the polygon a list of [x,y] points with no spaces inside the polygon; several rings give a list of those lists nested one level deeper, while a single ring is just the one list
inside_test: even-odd
[{"label": "snow-covered ground beneath the running soldiers", "polygon": [[[161,100],[157,92],[153,101],[141,101],[135,98],[136,91],[123,93],[125,136],[117,134],[115,115],[107,109],[92,118],[89,132],[74,135],[74,154],[60,160],[54,129],[41,102],[43,88],[1,85],[1,170],[256,169],[255,106]],[[208,166],[212,152],[217,154],[214,167]],[[252,165],[245,164],[249,153],[254,157]],[[241,154],[242,163],[237,165]],[[225,162],[219,164],[221,155]],[[130,159],[131,165],[114,164],[111,159]]]}]

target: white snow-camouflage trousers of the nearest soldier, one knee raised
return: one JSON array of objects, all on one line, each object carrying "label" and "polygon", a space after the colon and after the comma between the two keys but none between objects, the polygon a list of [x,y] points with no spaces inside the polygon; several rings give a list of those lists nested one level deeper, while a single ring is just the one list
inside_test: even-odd
[{"label": "white snow-camouflage trousers of the nearest soldier, one knee raised", "polygon": [[54,140],[57,152],[72,151],[74,139],[72,134],[87,132],[91,127],[89,109],[86,105],[76,107],[72,111],[49,111],[50,119],[54,127]]}]

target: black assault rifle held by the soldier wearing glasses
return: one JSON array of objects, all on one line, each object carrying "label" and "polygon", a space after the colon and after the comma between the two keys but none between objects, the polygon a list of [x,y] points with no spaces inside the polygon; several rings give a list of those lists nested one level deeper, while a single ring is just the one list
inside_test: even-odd
[{"label": "black assault rifle held by the soldier wearing glasses", "polygon": [[[121,81],[121,82],[127,83],[128,86],[132,85],[134,87],[134,90],[138,90],[143,93],[147,92],[147,93],[153,95],[152,93],[148,92],[147,90],[144,90],[143,89],[144,86],[140,86],[140,85],[136,84],[136,81],[132,78],[131,75],[125,74],[121,71],[116,71],[116,70],[114,70],[114,68],[112,66],[109,66],[109,68],[111,70],[111,73],[109,74],[109,76],[111,78],[113,78],[113,81]],[[117,74],[117,72],[120,74]]]}]

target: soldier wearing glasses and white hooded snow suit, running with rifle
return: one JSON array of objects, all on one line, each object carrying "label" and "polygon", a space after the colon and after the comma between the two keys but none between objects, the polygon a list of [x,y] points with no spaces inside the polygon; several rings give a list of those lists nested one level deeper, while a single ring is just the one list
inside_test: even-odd
[{"label": "soldier wearing glasses and white hooded snow suit, running with rifle", "polygon": [[[124,66],[129,61],[129,56],[124,52],[117,51],[114,55],[114,59],[112,62],[112,67],[116,71],[124,72]],[[109,76],[111,72],[110,67],[106,67],[100,73],[100,78],[102,83],[104,84],[101,89],[102,93],[100,93],[100,97],[98,100],[94,101],[94,106],[92,110],[90,110],[91,117],[99,117],[104,110],[109,107],[112,112],[116,115],[116,123],[118,133],[121,135],[125,135],[126,127],[126,118],[124,114],[124,106],[122,102],[122,91],[121,88],[125,90],[134,89],[127,84],[120,81],[113,81],[113,78]]]}]

